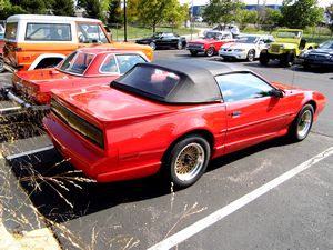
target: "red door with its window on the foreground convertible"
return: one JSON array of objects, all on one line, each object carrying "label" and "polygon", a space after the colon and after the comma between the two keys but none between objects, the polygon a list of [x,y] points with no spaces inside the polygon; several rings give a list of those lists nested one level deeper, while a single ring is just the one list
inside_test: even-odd
[{"label": "red door with its window on the foreground convertible", "polygon": [[216,77],[226,106],[225,153],[276,136],[286,126],[287,100],[274,97],[274,89],[251,72]]}]

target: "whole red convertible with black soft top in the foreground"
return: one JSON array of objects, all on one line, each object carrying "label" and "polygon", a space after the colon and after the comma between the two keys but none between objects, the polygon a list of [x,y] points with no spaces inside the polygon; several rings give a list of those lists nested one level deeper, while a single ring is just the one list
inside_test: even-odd
[{"label": "whole red convertible with black soft top in the foreground", "polygon": [[210,159],[310,132],[325,106],[312,90],[221,62],[139,63],[111,86],[54,91],[43,119],[54,146],[99,182],[162,171],[179,188]]}]

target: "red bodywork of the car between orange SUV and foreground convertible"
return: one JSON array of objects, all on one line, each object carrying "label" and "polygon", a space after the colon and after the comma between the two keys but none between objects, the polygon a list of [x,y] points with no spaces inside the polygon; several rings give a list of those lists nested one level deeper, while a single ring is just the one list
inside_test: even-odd
[{"label": "red bodywork of the car between orange SUV and foreground convertible", "polygon": [[52,89],[77,89],[94,84],[108,84],[119,78],[121,76],[119,73],[101,73],[99,71],[109,54],[138,53],[148,61],[147,57],[138,51],[93,48],[84,48],[79,51],[95,54],[92,63],[82,76],[63,72],[59,68],[17,71],[12,76],[13,88],[37,104],[49,104]]}]

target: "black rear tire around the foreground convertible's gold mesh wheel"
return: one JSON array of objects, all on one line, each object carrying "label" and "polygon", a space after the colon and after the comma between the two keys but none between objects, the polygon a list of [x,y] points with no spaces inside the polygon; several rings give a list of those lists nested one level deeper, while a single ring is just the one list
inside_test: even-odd
[{"label": "black rear tire around the foreground convertible's gold mesh wheel", "polygon": [[[204,158],[204,163],[200,170],[200,172],[192,178],[191,180],[188,181],[183,181],[180,180],[176,174],[175,174],[175,159],[178,157],[178,154],[180,153],[180,151],[188,146],[189,143],[192,142],[196,142],[199,143],[205,151],[205,158]],[[205,169],[208,167],[209,160],[210,160],[210,154],[211,154],[211,148],[209,142],[199,134],[191,134],[185,138],[183,138],[182,140],[178,141],[173,148],[171,149],[171,151],[169,152],[169,154],[165,158],[165,162],[163,163],[163,168],[165,173],[168,174],[168,179],[173,182],[173,186],[175,188],[186,188],[191,184],[193,184],[194,182],[196,182],[200,177],[205,172]]]}]

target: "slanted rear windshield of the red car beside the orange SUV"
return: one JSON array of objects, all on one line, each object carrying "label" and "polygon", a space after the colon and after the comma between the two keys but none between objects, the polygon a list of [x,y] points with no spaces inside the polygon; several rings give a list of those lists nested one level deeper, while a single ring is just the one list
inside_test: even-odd
[{"label": "slanted rear windshield of the red car beside the orange SUV", "polygon": [[63,61],[60,70],[68,73],[83,74],[94,58],[93,53],[73,52]]}]

